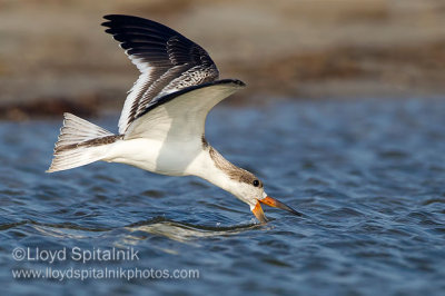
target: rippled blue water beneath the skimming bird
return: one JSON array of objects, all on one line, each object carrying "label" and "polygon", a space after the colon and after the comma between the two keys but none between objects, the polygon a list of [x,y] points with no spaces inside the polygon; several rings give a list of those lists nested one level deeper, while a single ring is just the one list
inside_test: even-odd
[{"label": "rippled blue water beneath the skimming bird", "polygon": [[[96,120],[112,130],[116,121]],[[306,215],[265,208],[273,218],[265,226],[246,205],[198,178],[116,164],[43,174],[60,124],[0,124],[2,295],[445,292],[445,101],[218,107],[209,117],[209,142],[257,174],[270,196]],[[14,260],[17,247],[30,256]],[[92,254],[113,247],[134,248],[138,259],[83,264],[69,257],[73,248]],[[37,262],[37,248],[65,248],[68,258]],[[192,269],[199,278],[11,274],[49,267]]]}]

